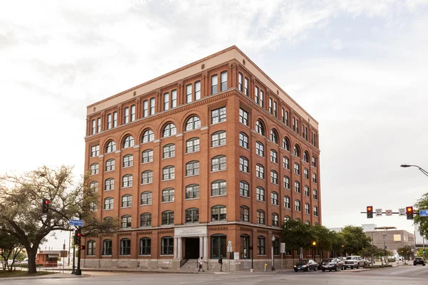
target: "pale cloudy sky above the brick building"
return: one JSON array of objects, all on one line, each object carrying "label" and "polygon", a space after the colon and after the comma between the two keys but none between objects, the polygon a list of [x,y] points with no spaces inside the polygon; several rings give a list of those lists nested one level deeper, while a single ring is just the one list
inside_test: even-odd
[{"label": "pale cloudy sky above the brick building", "polygon": [[[428,192],[428,0],[9,1],[0,173],[74,165],[86,106],[236,45],[320,124],[322,224]],[[42,247],[60,249],[68,233]]]}]

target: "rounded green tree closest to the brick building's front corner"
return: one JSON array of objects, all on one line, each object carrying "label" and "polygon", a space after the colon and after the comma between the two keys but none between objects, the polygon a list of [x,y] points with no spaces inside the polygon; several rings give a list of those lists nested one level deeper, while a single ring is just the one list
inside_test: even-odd
[{"label": "rounded green tree closest to the brick building's front corner", "polygon": [[300,250],[312,247],[315,240],[315,234],[310,224],[304,224],[300,221],[288,220],[282,229],[282,240],[288,249]]}]

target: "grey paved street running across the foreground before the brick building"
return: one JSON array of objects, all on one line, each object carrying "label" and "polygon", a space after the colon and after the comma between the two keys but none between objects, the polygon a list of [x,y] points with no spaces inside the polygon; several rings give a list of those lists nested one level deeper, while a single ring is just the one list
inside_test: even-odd
[{"label": "grey paved street running across the foreground before the brick building", "polygon": [[396,266],[389,269],[370,271],[340,271],[340,272],[297,272],[281,271],[276,273],[215,273],[215,274],[152,274],[131,272],[85,271],[83,277],[69,277],[61,279],[16,279],[0,280],[0,284],[207,284],[218,285],[233,283],[235,285],[256,284],[388,284],[410,285],[427,284],[428,266]]}]

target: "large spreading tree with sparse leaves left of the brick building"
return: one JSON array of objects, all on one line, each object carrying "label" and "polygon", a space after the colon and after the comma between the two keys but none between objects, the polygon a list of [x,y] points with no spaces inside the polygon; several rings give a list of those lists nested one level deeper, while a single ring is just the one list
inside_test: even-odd
[{"label": "large spreading tree with sparse leaves left of the brick building", "polygon": [[[73,230],[68,219],[83,219],[83,236],[118,229],[117,219],[98,220],[93,207],[100,204],[98,192],[88,187],[89,175],[74,181],[72,167],[39,167],[25,175],[0,177],[0,230],[19,239],[29,257],[29,274],[36,273],[39,244],[55,230]],[[43,213],[42,199],[49,199]]]}]

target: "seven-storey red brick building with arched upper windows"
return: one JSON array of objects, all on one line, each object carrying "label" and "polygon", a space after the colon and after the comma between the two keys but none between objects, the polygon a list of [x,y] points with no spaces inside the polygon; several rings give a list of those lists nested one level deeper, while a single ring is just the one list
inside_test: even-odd
[{"label": "seven-storey red brick building with arched upper windows", "polygon": [[250,246],[262,268],[284,219],[321,224],[318,123],[236,46],[89,105],[85,140],[94,210],[122,229],[83,266],[212,268],[230,242],[231,270]]}]

